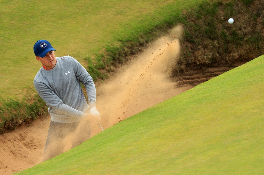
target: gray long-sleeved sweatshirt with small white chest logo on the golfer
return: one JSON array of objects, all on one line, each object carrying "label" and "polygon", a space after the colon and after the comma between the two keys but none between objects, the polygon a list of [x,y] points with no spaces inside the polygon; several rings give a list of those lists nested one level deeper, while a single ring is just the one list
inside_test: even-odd
[{"label": "gray long-sleeved sweatshirt with small white chest logo on the golfer", "polygon": [[92,77],[73,57],[56,57],[56,65],[51,70],[43,67],[34,78],[34,86],[40,97],[49,106],[52,121],[72,123],[79,121],[89,109],[80,82],[86,87],[90,106],[96,104],[96,90]]}]

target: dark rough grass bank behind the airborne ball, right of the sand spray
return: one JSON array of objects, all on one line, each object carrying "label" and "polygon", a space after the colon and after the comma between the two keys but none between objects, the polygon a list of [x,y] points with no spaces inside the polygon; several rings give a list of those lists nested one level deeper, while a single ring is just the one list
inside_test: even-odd
[{"label": "dark rough grass bank behind the airborne ball, right of the sand spray", "polygon": [[174,76],[203,66],[241,65],[263,55],[263,15],[261,0],[205,2],[182,14],[185,34]]}]

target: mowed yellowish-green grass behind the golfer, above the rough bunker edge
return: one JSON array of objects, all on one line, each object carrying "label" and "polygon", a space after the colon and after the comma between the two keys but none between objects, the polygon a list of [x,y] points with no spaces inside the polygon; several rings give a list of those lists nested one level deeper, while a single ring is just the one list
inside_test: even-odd
[{"label": "mowed yellowish-green grass behind the golfer, above the rough bunker edge", "polygon": [[41,67],[33,52],[37,40],[50,41],[56,56],[71,55],[86,65],[85,57],[201,1],[0,0],[0,98],[21,100],[35,92],[33,79]]}]

